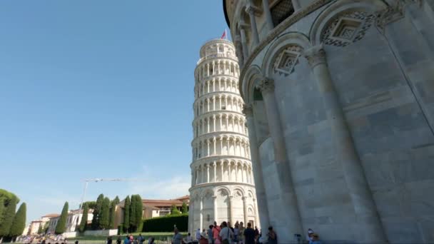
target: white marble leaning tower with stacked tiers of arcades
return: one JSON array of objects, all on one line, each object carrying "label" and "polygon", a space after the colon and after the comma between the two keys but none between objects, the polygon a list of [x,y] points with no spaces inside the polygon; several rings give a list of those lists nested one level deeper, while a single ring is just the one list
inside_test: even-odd
[{"label": "white marble leaning tower with stacked tiers of arcades", "polygon": [[214,39],[201,47],[194,72],[190,231],[207,229],[214,221],[258,225],[238,75],[231,41]]}]

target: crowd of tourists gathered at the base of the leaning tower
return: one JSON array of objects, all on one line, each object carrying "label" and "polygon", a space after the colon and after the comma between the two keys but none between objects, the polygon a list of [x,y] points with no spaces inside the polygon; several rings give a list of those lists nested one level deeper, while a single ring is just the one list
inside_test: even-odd
[{"label": "crowd of tourists gathered at the base of the leaning tower", "polygon": [[[193,240],[191,233],[188,233],[186,238],[183,238],[178,229],[175,228],[172,238],[172,244],[277,244],[278,236],[276,231],[273,230],[273,226],[268,228],[268,233],[262,236],[258,227],[253,226],[251,223],[247,223],[247,227],[244,227],[243,222],[235,223],[231,225],[230,222],[223,221],[221,225],[217,225],[214,221],[213,225],[209,225],[208,230],[200,228],[195,233],[196,240]],[[314,233],[311,228],[308,229],[306,235],[306,243],[308,244],[321,244],[319,236]],[[111,244],[111,243],[110,243]],[[118,243],[120,244],[120,243]],[[128,244],[128,243],[126,243]]]}]

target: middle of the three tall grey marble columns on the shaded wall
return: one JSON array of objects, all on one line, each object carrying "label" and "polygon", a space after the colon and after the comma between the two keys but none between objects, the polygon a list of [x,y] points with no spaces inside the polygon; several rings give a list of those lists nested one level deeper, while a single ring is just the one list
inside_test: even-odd
[{"label": "middle of the three tall grey marble columns on the shaded wall", "polygon": [[[298,212],[298,202],[296,192],[293,187],[291,169],[286,156],[286,143],[283,137],[281,118],[278,111],[276,97],[274,95],[274,81],[271,78],[263,78],[258,84],[266,108],[268,129],[273,139],[274,162],[276,167],[276,177],[280,182],[281,208],[286,209],[286,231],[290,235],[303,233],[300,213]],[[249,130],[251,131],[251,130]],[[278,226],[276,228],[279,228]],[[288,241],[288,240],[285,240]]]}]

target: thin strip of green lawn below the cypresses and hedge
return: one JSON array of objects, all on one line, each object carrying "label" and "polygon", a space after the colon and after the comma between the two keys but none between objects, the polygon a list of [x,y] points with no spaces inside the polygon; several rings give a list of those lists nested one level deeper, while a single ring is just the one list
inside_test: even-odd
[{"label": "thin strip of green lawn below the cypresses and hedge", "polygon": [[[139,233],[130,233],[129,235],[133,235],[134,238],[137,238]],[[183,236],[186,236],[187,233],[181,233]],[[127,234],[122,234],[122,243],[123,239],[125,239],[125,236]],[[145,243],[148,243],[148,238],[153,237],[155,240],[167,240],[167,238],[172,238],[173,232],[142,232],[141,235],[143,235],[146,239]],[[113,243],[116,243],[117,235],[113,236]],[[78,236],[76,238],[68,238],[69,243],[74,243],[74,241],[78,240],[79,243],[105,243],[107,240],[107,236]]]}]

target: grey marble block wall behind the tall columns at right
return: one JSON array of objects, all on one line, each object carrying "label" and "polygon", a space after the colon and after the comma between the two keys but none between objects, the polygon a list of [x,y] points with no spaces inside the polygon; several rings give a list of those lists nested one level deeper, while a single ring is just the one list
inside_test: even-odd
[{"label": "grey marble block wall behind the tall columns at right", "polygon": [[[432,0],[425,3],[434,6]],[[311,27],[324,9],[293,24],[278,38],[293,32],[314,36]],[[389,24],[384,32],[373,24],[362,39],[348,46],[324,45],[331,78],[390,243],[424,243],[434,238],[434,197],[430,194],[434,191],[434,32],[428,28],[433,26],[428,23],[430,16],[413,15],[413,20],[410,16]],[[418,21],[423,24],[417,26]],[[260,36],[264,31],[258,24]],[[313,42],[309,39],[308,44]],[[364,228],[357,223],[340,156],[330,143],[333,135],[311,66],[301,57],[289,75],[270,72],[271,66],[263,62],[268,52],[277,51],[272,45],[251,66],[262,67],[263,74],[275,82],[303,230],[313,228],[328,241],[357,240]],[[286,220],[279,214],[285,209],[278,204],[283,196],[278,195],[281,182],[274,177],[279,169],[265,108],[260,101],[253,103],[270,223],[279,235],[291,239],[293,233],[287,233]]]}]

